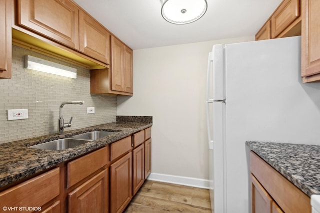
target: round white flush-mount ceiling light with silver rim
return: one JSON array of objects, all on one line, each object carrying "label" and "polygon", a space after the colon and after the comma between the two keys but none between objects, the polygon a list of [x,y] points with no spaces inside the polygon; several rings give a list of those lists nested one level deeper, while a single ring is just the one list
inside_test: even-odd
[{"label": "round white flush-mount ceiling light with silver rim", "polygon": [[174,24],[196,21],[206,11],[206,0],[161,0],[162,17]]}]

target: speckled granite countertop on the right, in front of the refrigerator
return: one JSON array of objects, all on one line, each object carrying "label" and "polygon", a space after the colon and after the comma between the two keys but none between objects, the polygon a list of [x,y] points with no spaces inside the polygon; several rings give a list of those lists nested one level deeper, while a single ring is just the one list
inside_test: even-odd
[{"label": "speckled granite countertop on the right, in front of the refrigerator", "polygon": [[306,195],[320,194],[320,146],[253,141],[245,144]]}]

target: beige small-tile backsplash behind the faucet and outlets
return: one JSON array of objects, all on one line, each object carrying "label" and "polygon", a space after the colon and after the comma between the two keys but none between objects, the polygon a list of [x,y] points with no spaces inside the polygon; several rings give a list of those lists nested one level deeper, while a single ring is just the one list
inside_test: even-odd
[{"label": "beige small-tile backsplash behind the faucet and outlets", "polygon": [[[24,69],[24,55],[76,68],[77,77]],[[0,143],[57,132],[60,103],[78,100],[84,104],[63,106],[64,122],[73,116],[65,131],[115,122],[116,96],[91,95],[89,70],[13,45],[12,78],[0,79]],[[95,113],[87,114],[87,107]],[[7,109],[28,109],[28,119],[8,121]]]}]

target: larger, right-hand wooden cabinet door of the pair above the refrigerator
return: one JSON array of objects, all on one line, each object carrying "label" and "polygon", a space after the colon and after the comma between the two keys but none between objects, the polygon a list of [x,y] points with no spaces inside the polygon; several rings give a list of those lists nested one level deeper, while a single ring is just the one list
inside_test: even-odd
[{"label": "larger, right-hand wooden cabinet door of the pair above the refrigerator", "polygon": [[271,37],[275,38],[300,16],[300,0],[283,0],[271,16]]}]

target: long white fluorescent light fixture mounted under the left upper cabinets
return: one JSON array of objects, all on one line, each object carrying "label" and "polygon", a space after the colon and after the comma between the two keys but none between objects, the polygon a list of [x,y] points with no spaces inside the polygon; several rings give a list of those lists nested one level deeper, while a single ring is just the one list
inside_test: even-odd
[{"label": "long white fluorescent light fixture mounted under the left upper cabinets", "polygon": [[36,71],[46,72],[54,75],[61,75],[69,78],[76,78],[76,69],[51,61],[30,55],[24,56],[24,68],[33,69]]}]

